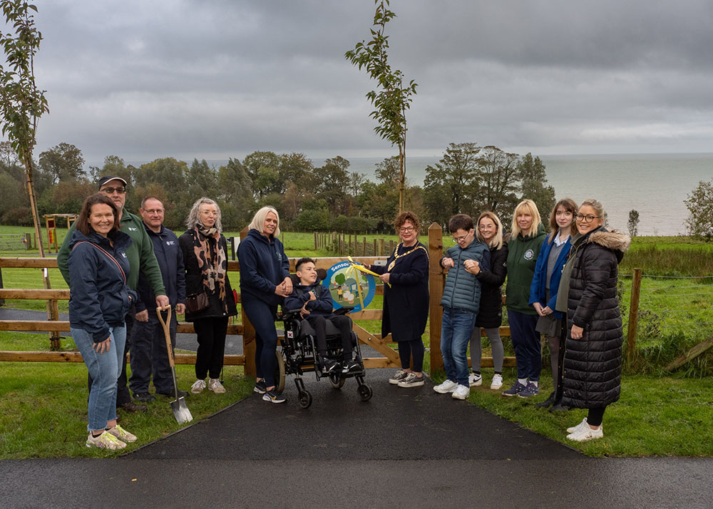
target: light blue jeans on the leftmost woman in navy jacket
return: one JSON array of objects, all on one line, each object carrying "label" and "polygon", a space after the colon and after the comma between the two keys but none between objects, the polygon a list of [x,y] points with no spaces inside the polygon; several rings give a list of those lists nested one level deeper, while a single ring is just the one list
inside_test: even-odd
[{"label": "light blue jeans on the leftmost woman in navy jacket", "polygon": [[84,329],[71,327],[71,334],[93,381],[89,391],[87,429],[98,431],[106,428],[108,421],[116,419],[116,381],[124,364],[126,329],[123,326],[109,329],[109,351],[103,354],[97,353],[93,337]]}]

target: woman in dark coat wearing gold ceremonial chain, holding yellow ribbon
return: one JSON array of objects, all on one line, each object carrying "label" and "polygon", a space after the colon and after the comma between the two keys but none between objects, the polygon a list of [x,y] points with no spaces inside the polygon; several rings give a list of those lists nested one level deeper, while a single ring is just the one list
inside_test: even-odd
[{"label": "woman in dark coat wearing gold ceremonial chain, holding yellow ribbon", "polygon": [[[424,385],[424,341],[421,336],[429,319],[429,252],[419,242],[421,222],[414,212],[401,212],[394,220],[399,245],[386,266],[369,265],[384,284],[381,337],[391,333],[399,343],[401,369],[389,379],[399,387]],[[389,286],[390,285],[390,286]],[[411,356],[414,367],[411,369]]]}]

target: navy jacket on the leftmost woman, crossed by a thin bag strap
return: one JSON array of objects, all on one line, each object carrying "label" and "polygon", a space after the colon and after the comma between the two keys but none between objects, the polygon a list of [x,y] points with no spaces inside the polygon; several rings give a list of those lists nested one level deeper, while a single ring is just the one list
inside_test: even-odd
[{"label": "navy jacket on the leftmost woman, crossed by a thin bag strap", "polygon": [[[84,235],[75,230],[69,242],[71,252],[69,268],[69,324],[75,329],[83,329],[99,343],[109,337],[110,327],[124,324],[131,302],[136,301],[136,292],[128,287],[119,267],[91,242],[109,252],[129,274],[126,248],[131,245],[131,237],[123,232],[110,233],[109,238],[96,232]],[[85,241],[83,243],[78,243]]]}]

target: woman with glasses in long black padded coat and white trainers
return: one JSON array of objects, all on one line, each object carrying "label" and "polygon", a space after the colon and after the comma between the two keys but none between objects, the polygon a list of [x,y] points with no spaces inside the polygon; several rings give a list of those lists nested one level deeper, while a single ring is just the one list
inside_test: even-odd
[{"label": "woman with glasses in long black padded coat and white trainers", "polygon": [[567,438],[602,438],[607,405],[619,399],[622,369],[622,317],[617,299],[618,265],[629,249],[628,235],[604,225],[604,207],[584,200],[576,215],[570,259],[562,274],[556,309],[567,309],[564,405],[588,408]]}]

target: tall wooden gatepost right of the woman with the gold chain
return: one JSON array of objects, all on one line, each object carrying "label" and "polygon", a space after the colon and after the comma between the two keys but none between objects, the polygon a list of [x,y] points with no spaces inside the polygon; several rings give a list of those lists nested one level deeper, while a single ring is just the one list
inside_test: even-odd
[{"label": "tall wooden gatepost right of the woman with the gold chain", "polygon": [[443,369],[441,357],[441,321],[443,310],[441,298],[443,297],[443,269],[441,257],[443,256],[443,230],[441,225],[434,222],[429,226],[429,337],[431,344],[431,375],[434,371]]}]

